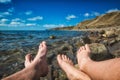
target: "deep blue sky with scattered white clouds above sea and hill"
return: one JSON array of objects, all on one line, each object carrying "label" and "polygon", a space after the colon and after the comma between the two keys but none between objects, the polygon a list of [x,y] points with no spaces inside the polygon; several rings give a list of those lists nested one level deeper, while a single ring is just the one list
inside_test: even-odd
[{"label": "deep blue sky with scattered white clouds above sea and hill", "polygon": [[120,0],[0,0],[0,30],[72,26],[119,10]]}]

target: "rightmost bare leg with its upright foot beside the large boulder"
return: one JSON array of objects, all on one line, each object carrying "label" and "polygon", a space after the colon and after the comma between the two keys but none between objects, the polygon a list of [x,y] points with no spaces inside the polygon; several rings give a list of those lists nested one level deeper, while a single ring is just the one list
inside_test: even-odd
[{"label": "rightmost bare leg with its upright foot beside the large boulder", "polygon": [[93,80],[120,80],[120,58],[96,62],[89,58],[88,45],[77,52],[78,64],[82,71]]}]

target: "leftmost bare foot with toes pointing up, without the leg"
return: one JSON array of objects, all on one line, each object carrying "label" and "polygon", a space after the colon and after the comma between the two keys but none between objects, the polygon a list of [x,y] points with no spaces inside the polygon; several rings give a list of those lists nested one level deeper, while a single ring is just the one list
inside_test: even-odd
[{"label": "leftmost bare foot with toes pointing up, without the leg", "polygon": [[37,75],[43,77],[48,73],[48,65],[46,61],[47,46],[46,42],[42,42],[39,46],[38,53],[34,59],[31,54],[25,56],[25,67],[33,66],[37,70]]}]

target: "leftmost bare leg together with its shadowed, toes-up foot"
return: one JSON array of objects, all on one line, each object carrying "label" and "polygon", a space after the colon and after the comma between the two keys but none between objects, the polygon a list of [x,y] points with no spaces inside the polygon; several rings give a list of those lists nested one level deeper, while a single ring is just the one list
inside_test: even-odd
[{"label": "leftmost bare leg together with its shadowed, toes-up foot", "polygon": [[39,80],[40,77],[47,75],[48,65],[46,62],[46,53],[46,43],[42,42],[34,60],[31,60],[29,55],[27,55],[25,68],[3,80]]}]

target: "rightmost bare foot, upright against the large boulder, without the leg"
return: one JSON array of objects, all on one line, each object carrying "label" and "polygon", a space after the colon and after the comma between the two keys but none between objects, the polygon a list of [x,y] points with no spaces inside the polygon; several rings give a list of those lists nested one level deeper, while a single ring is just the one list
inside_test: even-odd
[{"label": "rightmost bare foot, upright against the large boulder, without the leg", "polygon": [[91,61],[91,59],[89,57],[90,53],[91,53],[91,50],[90,50],[88,44],[80,47],[79,50],[77,51],[78,65],[81,70],[84,68],[84,66],[86,65],[86,63],[88,61]]}]

